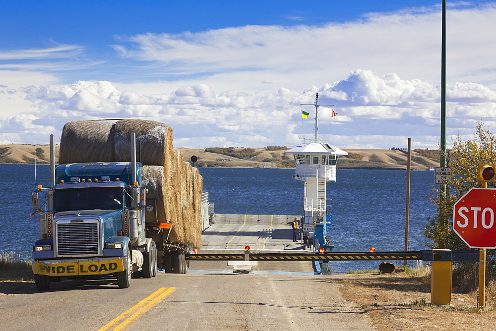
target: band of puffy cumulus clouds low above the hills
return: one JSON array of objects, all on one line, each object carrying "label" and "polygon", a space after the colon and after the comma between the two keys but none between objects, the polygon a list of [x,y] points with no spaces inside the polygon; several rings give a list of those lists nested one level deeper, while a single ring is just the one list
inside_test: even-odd
[{"label": "band of puffy cumulus clouds low above the hills", "polygon": [[[417,147],[437,146],[439,87],[370,70],[321,88],[265,94],[218,92],[205,84],[149,95],[121,91],[108,81],[30,86],[22,93],[35,111],[0,119],[0,141],[46,143],[48,134],[60,136],[69,120],[130,117],[170,125],[177,147],[293,146],[298,138],[313,137],[314,107],[300,104],[313,104],[316,92],[320,104],[335,105],[335,117],[330,107],[319,108],[319,134],[337,147],[390,148],[405,137]],[[473,132],[476,119],[496,123],[496,94],[490,88],[456,83],[447,95],[448,134]],[[302,120],[302,109],[309,119]]]}]

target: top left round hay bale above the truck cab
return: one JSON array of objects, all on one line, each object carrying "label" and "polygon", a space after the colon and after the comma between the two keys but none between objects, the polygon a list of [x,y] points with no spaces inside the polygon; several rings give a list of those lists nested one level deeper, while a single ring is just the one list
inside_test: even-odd
[{"label": "top left round hay bale above the truck cab", "polygon": [[114,124],[103,121],[65,123],[59,164],[114,161]]}]

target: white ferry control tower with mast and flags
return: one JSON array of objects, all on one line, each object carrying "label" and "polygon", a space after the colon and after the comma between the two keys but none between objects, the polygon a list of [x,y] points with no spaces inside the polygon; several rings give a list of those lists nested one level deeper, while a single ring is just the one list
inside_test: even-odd
[{"label": "white ferry control tower with mast and flags", "polygon": [[[303,143],[284,153],[293,154],[295,159],[295,174],[293,178],[304,181],[303,211],[300,222],[302,240],[305,246],[309,243],[315,251],[323,249],[332,251],[334,247],[327,237],[327,225],[332,223],[330,208],[332,199],[327,198],[328,181],[336,181],[336,164],[340,155],[347,152],[332,146],[327,140],[318,138],[318,93],[315,104],[302,104],[315,107],[315,133],[313,139],[303,139]],[[304,118],[308,113],[302,110]],[[334,114],[334,111],[333,111]],[[306,116],[306,117],[305,117]]]}]

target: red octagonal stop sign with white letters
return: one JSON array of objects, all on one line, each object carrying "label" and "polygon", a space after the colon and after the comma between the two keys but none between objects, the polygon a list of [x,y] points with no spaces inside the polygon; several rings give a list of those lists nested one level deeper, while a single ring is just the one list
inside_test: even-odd
[{"label": "red octagonal stop sign with white letters", "polygon": [[471,248],[496,248],[496,189],[471,188],[453,206],[453,230]]}]

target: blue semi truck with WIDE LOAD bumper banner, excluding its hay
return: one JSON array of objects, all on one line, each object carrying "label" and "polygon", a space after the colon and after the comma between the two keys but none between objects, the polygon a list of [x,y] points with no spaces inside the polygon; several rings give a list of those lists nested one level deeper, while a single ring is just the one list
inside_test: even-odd
[{"label": "blue semi truck with WIDE LOAD bumper banner, excluding its hay", "polygon": [[52,187],[38,186],[32,193],[32,216],[40,215],[40,239],[32,252],[38,290],[62,277],[90,276],[116,276],[119,287],[127,288],[133,277],[156,276],[158,259],[167,260],[172,273],[185,273],[184,254],[192,248],[164,247],[170,224],[146,227],[145,211],[153,207],[146,205],[134,146],[131,162],[55,167],[54,154],[51,136]]}]

